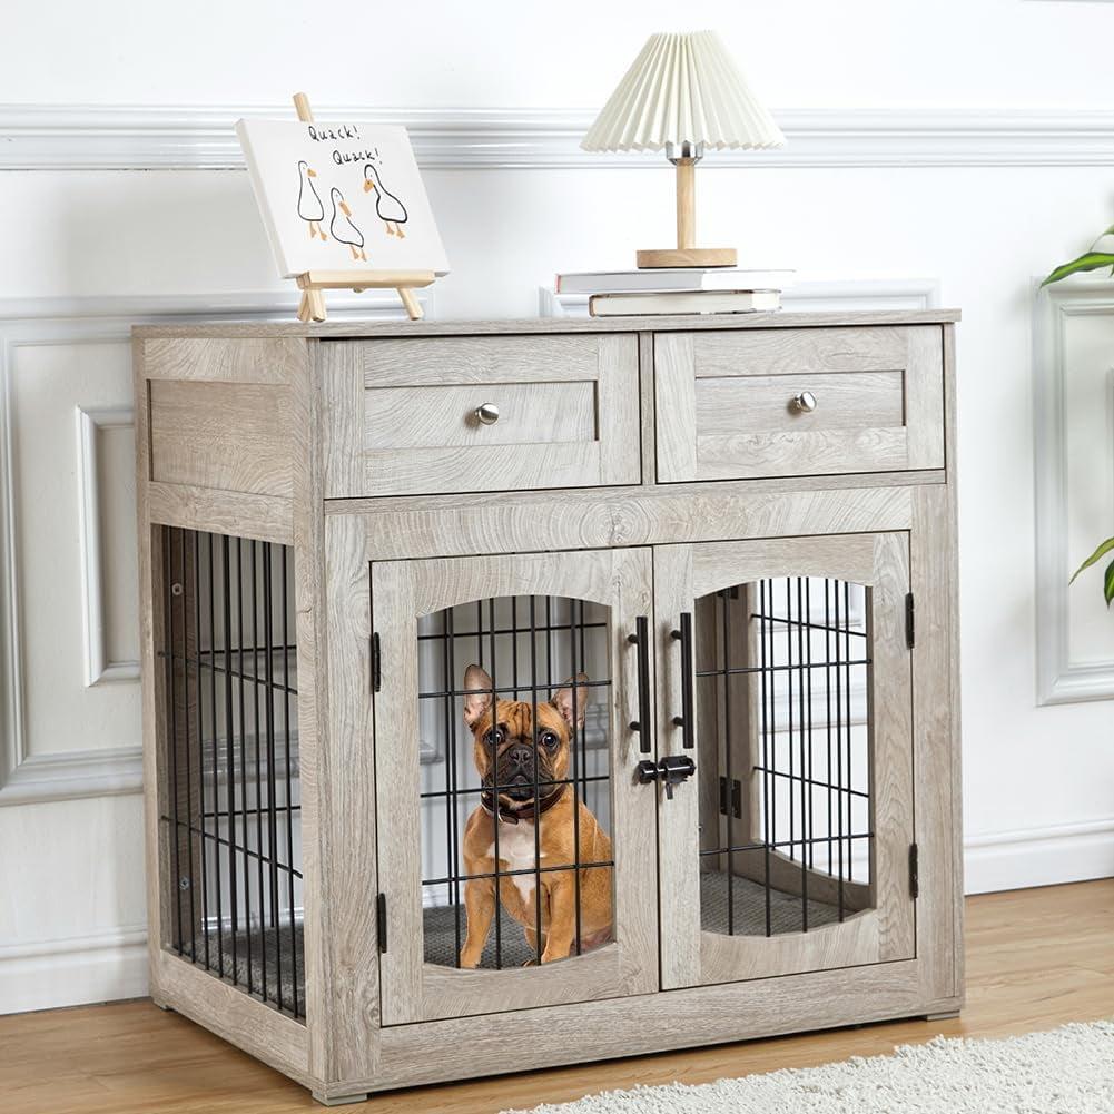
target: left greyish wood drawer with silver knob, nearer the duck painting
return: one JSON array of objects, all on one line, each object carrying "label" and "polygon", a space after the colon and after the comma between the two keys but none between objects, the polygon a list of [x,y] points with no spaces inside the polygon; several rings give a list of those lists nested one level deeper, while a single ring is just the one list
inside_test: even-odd
[{"label": "left greyish wood drawer with silver knob, nearer the duck painting", "polygon": [[641,481],[634,335],[321,348],[326,498]]}]

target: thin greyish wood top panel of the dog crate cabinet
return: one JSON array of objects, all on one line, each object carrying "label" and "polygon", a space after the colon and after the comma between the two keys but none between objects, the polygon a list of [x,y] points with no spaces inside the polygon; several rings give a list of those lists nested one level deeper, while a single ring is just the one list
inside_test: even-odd
[{"label": "thin greyish wood top panel of the dog crate cabinet", "polygon": [[383,336],[468,336],[496,333],[632,333],[694,330],[809,329],[818,325],[926,325],[959,321],[958,310],[886,310],[840,313],[746,313],[649,317],[525,317],[500,321],[213,321],[136,325],[154,338],[278,338],[349,340]]}]

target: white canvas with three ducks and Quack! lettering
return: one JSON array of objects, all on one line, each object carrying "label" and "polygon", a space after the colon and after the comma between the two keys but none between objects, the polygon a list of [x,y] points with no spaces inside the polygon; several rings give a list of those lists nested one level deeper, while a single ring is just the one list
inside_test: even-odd
[{"label": "white canvas with three ducks and Quack! lettering", "polygon": [[236,124],[284,278],[310,271],[432,271],[449,263],[407,129]]}]

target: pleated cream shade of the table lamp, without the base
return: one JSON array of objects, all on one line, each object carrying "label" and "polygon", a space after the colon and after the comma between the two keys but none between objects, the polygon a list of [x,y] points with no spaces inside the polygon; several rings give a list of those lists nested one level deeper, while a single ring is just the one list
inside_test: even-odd
[{"label": "pleated cream shade of the table lamp, without the base", "polygon": [[785,137],[715,31],[652,35],[580,146],[584,150],[764,150]]}]

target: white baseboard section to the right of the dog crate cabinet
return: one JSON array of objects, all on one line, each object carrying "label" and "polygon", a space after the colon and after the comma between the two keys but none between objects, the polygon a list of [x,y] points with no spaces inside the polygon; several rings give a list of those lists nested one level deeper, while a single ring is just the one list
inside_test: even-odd
[{"label": "white baseboard section to the right of the dog crate cabinet", "polygon": [[964,889],[993,893],[1114,876],[1114,817],[968,836]]}]

